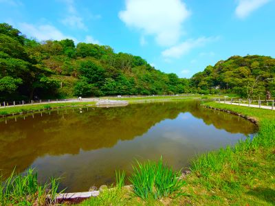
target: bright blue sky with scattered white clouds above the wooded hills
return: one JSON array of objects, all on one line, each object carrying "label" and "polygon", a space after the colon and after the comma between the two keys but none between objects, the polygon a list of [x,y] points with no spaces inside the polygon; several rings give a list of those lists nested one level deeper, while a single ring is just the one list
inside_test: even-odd
[{"label": "bright blue sky with scattered white clouds above the wooded hills", "polygon": [[233,55],[275,56],[275,0],[0,0],[0,21],[39,41],[72,38],[190,78]]}]

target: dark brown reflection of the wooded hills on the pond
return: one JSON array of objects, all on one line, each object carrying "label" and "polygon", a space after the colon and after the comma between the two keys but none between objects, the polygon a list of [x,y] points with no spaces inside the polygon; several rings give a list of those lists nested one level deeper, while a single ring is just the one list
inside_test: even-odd
[{"label": "dark brown reflection of the wooded hills on the pond", "polygon": [[[111,148],[119,140],[143,135],[163,119],[175,119],[181,112],[190,112],[206,124],[214,124],[232,133],[251,133],[252,126],[236,121],[237,117],[214,115],[198,102],[133,104],[116,108],[79,108],[52,111],[29,116],[17,122],[0,123],[0,169],[8,174],[14,165],[23,171],[37,157],[44,155],[78,154],[80,149]],[[232,119],[230,119],[232,118]],[[244,124],[245,123],[245,124]]]}]

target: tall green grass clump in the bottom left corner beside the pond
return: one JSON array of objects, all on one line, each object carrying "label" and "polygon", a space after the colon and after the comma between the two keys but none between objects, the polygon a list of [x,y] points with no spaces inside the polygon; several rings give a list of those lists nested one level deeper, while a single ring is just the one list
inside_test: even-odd
[{"label": "tall green grass clump in the bottom left corner beside the pond", "polygon": [[0,205],[45,205],[48,194],[50,203],[57,194],[58,181],[52,178],[50,184],[39,185],[34,169],[27,170],[25,175],[13,171],[0,182]]}]

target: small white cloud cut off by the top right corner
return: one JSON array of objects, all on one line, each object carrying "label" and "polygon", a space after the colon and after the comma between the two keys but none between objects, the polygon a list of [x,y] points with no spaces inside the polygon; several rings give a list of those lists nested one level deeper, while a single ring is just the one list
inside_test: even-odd
[{"label": "small white cloud cut off by the top right corner", "polygon": [[238,0],[235,14],[239,19],[245,19],[250,13],[254,12],[270,0]]}]

